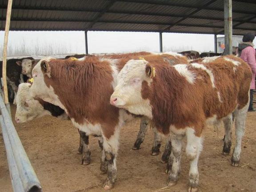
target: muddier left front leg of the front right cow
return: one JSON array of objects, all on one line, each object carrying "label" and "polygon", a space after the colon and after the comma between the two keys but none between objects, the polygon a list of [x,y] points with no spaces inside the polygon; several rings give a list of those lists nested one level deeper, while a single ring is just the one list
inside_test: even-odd
[{"label": "muddier left front leg of the front right cow", "polygon": [[180,174],[180,155],[181,155],[181,139],[172,137],[172,152],[168,161],[168,186],[173,186],[177,183]]}]

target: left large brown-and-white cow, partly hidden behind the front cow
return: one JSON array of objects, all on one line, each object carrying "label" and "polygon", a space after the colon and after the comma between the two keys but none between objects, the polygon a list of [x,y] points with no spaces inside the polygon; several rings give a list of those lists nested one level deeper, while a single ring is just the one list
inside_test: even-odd
[{"label": "left large brown-and-white cow, partly hidden behind the front cow", "polygon": [[[132,56],[139,57],[135,54],[132,54],[131,58]],[[104,189],[112,188],[116,181],[119,130],[131,116],[125,110],[110,105],[109,98],[116,86],[119,70],[131,58],[45,58],[32,70],[32,97],[39,97],[64,109],[73,125],[85,132],[86,136],[102,136],[100,170],[108,173]],[[161,58],[161,62],[166,66],[172,63],[173,58],[176,59],[168,54],[152,54],[151,57],[144,56],[142,60],[155,58]],[[90,153],[89,148],[84,150],[87,154]]]}]

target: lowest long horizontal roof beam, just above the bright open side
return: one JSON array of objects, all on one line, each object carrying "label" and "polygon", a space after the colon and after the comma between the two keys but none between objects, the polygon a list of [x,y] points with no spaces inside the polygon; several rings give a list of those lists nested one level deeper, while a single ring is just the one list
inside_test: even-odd
[{"label": "lowest long horizontal roof beam, just above the bright open side", "polygon": [[[12,18],[12,21],[36,21],[36,22],[93,22],[94,20],[49,20],[49,19],[30,19],[30,18]],[[5,18],[0,18],[0,21],[5,21]],[[117,21],[117,20],[103,20],[99,19],[97,23],[124,23],[124,24],[149,24],[149,25],[171,25],[171,23],[166,22],[148,22],[148,21]],[[220,28],[223,29],[223,26],[213,26],[209,24],[176,24],[176,26],[180,27],[199,27],[199,28]],[[255,28],[239,28],[236,27],[234,29],[239,30],[252,30],[255,31]],[[91,30],[91,29],[90,29]],[[173,28],[175,30],[175,28]],[[159,30],[160,32],[169,32],[169,30]],[[219,34],[219,33],[218,33]]]}]

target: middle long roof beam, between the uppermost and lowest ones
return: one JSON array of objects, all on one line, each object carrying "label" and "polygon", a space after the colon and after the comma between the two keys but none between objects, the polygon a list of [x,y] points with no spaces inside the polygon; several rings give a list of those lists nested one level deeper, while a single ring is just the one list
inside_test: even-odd
[{"label": "middle long roof beam, between the uppermost and lowest ones", "polygon": [[[0,6],[0,9],[6,9],[6,6]],[[102,12],[102,9],[77,9],[77,8],[52,8],[52,7],[12,7],[12,10],[40,10],[40,11],[65,11],[65,12]],[[128,14],[128,15],[145,15],[145,16],[167,16],[167,17],[184,17],[183,14],[172,14],[172,13],[153,13],[153,12],[140,12],[140,11],[113,11],[107,10],[106,13],[113,13],[113,14]],[[255,15],[255,14],[254,14]],[[253,16],[254,16],[253,15]],[[188,16],[188,18],[192,19],[206,19],[206,20],[218,20],[224,21],[223,18],[216,18],[212,16]],[[240,19],[233,19],[234,22],[242,22],[243,20]],[[248,21],[247,23],[256,24],[256,21]]]}]

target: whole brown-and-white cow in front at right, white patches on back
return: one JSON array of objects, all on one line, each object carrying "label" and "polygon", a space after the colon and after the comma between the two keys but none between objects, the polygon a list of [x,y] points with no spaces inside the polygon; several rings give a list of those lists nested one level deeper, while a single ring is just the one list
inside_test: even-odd
[{"label": "whole brown-and-white cow in front at right, white patches on back", "polygon": [[239,165],[251,79],[250,67],[236,56],[168,67],[159,60],[129,60],[117,76],[110,103],[136,115],[147,116],[160,133],[171,138],[168,186],[177,182],[181,140],[187,137],[185,151],[190,160],[188,191],[195,192],[199,182],[197,164],[203,148],[203,128],[224,120],[223,152],[228,154],[232,112],[236,117],[236,145],[231,164]]}]

